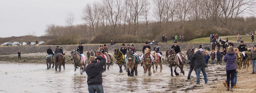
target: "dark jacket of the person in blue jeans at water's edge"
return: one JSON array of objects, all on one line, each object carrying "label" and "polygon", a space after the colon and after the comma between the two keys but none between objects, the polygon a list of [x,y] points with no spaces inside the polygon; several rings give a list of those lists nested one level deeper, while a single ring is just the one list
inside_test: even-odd
[{"label": "dark jacket of the person in blue jeans at water's edge", "polygon": [[206,67],[202,52],[197,51],[195,54],[192,55],[192,59],[195,60],[194,68]]}]

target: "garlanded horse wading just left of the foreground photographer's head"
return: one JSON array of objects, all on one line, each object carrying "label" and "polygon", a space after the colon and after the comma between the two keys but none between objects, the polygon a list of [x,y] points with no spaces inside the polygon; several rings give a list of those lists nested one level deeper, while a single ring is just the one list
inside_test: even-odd
[{"label": "garlanded horse wading just left of the foreground photographer's head", "polygon": [[[85,71],[85,67],[86,67],[86,63],[85,62],[85,65],[83,64],[83,59],[81,57],[81,55],[78,53],[78,52],[75,52],[75,51],[71,51],[70,52],[71,54],[71,57],[70,57],[70,60],[74,62],[74,68],[75,68],[75,72],[76,72],[76,68],[80,68],[80,74],[82,75],[83,72]],[[85,57],[85,61],[86,61],[86,57]]]}]

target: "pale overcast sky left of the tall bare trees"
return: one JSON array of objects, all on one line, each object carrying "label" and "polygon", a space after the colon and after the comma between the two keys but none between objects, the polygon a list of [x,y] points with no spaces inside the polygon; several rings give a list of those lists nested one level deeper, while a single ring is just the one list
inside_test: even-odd
[{"label": "pale overcast sky left of the tall bare trees", "polygon": [[81,24],[82,10],[97,0],[0,0],[0,37],[44,35],[48,24],[66,25],[67,12]]}]

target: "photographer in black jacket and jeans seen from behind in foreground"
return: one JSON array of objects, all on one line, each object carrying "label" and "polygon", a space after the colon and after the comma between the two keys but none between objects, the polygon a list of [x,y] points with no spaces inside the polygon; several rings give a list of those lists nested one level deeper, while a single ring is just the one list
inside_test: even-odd
[{"label": "photographer in black jacket and jeans seen from behind in foreground", "polygon": [[[102,72],[106,59],[102,56],[90,57],[89,64],[85,67],[85,72],[87,74],[87,84],[89,93],[104,93],[102,86]],[[100,60],[100,62],[96,62]]]}]

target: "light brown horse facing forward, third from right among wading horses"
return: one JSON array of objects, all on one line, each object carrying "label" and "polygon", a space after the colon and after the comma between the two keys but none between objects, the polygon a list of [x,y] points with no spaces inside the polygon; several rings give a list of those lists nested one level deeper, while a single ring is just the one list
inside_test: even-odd
[{"label": "light brown horse facing forward, third from right among wading horses", "polygon": [[151,67],[152,67],[152,60],[150,58],[150,49],[146,48],[145,49],[145,54],[143,55],[142,59],[142,64],[143,64],[143,69],[144,69],[144,75],[148,71],[148,76],[151,76]]}]

